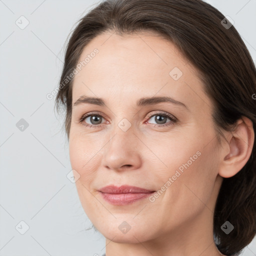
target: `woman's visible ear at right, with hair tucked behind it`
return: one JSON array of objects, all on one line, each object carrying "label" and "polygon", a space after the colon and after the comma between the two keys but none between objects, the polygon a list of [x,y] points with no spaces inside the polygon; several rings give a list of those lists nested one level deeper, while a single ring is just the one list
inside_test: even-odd
[{"label": "woman's visible ear at right, with hair tucked behind it", "polygon": [[236,129],[227,136],[228,144],[222,148],[218,174],[224,178],[231,177],[241,170],[252,152],[254,142],[252,121],[242,116],[236,124]]}]

